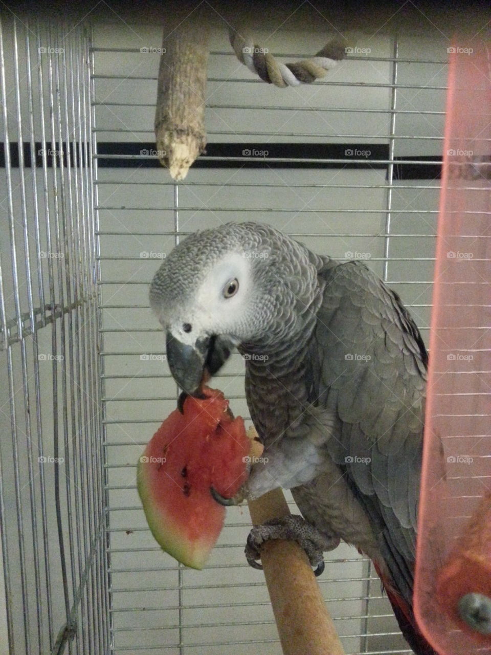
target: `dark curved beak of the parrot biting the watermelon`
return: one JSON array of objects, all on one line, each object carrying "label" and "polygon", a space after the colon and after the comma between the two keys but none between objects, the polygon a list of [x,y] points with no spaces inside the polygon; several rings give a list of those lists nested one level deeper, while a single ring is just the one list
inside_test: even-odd
[{"label": "dark curved beak of the parrot biting the watermelon", "polygon": [[228,342],[220,341],[216,335],[197,339],[190,346],[168,332],[166,335],[167,362],[173,379],[183,389],[177,407],[183,413],[187,396],[206,398],[202,392],[203,384],[221,368],[230,350]]}]

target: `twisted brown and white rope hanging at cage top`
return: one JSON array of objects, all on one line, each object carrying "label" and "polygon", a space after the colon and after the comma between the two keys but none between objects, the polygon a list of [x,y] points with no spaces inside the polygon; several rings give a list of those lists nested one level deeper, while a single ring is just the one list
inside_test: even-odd
[{"label": "twisted brown and white rope hanging at cage top", "polygon": [[345,48],[336,38],[328,41],[316,56],[302,59],[292,64],[282,64],[269,54],[266,48],[260,48],[248,35],[242,36],[235,29],[230,29],[230,44],[238,60],[247,66],[251,73],[259,75],[264,82],[284,88],[311,84],[345,58]]}]

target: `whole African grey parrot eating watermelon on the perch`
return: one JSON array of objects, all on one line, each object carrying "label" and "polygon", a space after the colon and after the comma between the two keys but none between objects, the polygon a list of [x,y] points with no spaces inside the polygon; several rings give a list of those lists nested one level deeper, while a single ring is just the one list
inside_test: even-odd
[{"label": "whole African grey parrot eating watermelon on the perch", "polygon": [[410,646],[435,653],[412,612],[427,352],[399,296],[362,261],[316,255],[251,222],[185,238],[150,301],[185,394],[198,396],[232,347],[245,355],[268,459],[252,467],[245,495],[291,489],[305,519],[255,527],[249,563],[267,538],[297,538],[319,570],[322,550],[354,544]]}]

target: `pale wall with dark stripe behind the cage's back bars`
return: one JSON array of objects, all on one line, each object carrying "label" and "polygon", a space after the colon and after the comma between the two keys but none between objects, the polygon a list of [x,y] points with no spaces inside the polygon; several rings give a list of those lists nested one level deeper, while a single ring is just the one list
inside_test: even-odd
[{"label": "pale wall with dark stripe behind the cage's back bars", "polygon": [[[225,28],[213,32],[207,159],[220,156],[219,143],[235,149],[223,164],[230,168],[195,167],[173,185],[165,170],[144,168],[152,159],[158,70],[149,50],[161,36],[160,28],[115,24],[96,29],[94,41],[112,652],[278,654],[263,578],[244,563],[247,509],[228,511],[203,572],[162,554],[141,512],[135,462],[177,391],[149,311],[149,281],[177,238],[227,221],[263,221],[316,252],[365,259],[409,305],[426,338],[447,46],[443,37],[400,37],[395,49],[391,36],[361,36],[369,54],[344,62],[325,82],[283,90],[239,64]],[[312,54],[324,39],[320,29],[289,26],[257,35],[275,54],[291,54],[287,61]],[[268,151],[259,170],[247,167],[247,151],[258,143]],[[289,147],[288,168],[275,162],[276,143]],[[342,161],[307,168],[302,147],[312,143],[323,144],[327,162],[329,148],[343,144]],[[344,153],[367,145],[382,154],[367,162]],[[243,372],[234,354],[215,383],[234,412],[248,417]],[[319,582],[346,652],[409,652],[367,562],[348,546],[326,559]]]}]

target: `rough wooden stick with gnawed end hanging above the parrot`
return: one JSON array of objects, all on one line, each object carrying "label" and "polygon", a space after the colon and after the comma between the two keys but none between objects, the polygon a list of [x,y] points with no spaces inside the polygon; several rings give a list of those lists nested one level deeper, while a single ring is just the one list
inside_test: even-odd
[{"label": "rough wooden stick with gnawed end hanging above the parrot", "polygon": [[194,14],[164,27],[155,112],[160,162],[173,179],[184,179],[206,146],[204,108],[208,24]]}]

